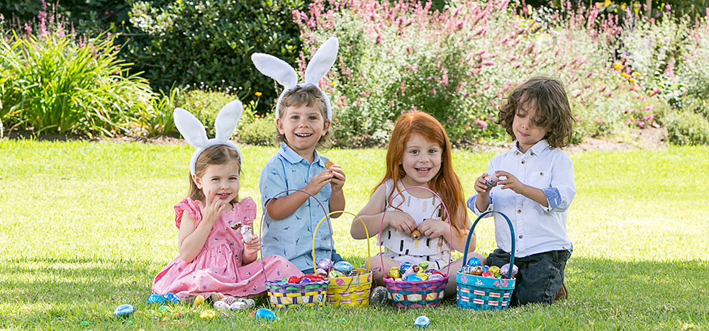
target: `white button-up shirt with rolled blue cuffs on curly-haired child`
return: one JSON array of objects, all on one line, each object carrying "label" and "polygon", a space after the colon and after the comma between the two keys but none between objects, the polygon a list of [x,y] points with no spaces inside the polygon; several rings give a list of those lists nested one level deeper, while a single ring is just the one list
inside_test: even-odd
[{"label": "white button-up shirt with rolled blue cuffs on curly-haired child", "polygon": [[[513,174],[525,185],[544,191],[548,207],[515,193],[511,189],[495,186],[490,191],[490,206],[485,211],[499,211],[507,215],[515,229],[515,257],[559,249],[573,249],[566,235],[566,210],[576,196],[574,164],[566,153],[549,147],[547,140],[540,140],[527,152],[518,150],[517,142],[508,152],[493,157],[488,174],[505,171]],[[475,196],[468,199],[467,206],[475,215]],[[495,218],[497,246],[505,252],[512,249],[510,227],[498,213],[485,215]]]}]

